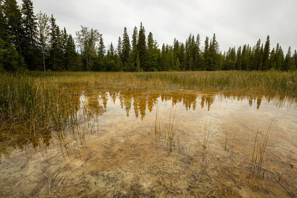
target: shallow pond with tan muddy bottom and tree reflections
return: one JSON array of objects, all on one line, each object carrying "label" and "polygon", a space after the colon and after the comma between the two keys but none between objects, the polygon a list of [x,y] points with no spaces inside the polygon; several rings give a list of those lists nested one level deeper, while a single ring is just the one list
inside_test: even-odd
[{"label": "shallow pond with tan muddy bottom and tree reflections", "polygon": [[296,98],[73,93],[75,126],[34,142],[2,130],[0,197],[297,197]]}]

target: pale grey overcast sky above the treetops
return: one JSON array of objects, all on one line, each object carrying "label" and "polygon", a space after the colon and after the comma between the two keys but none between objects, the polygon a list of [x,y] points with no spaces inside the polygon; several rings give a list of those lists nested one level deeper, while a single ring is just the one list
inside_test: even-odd
[{"label": "pale grey overcast sky above the treetops", "polygon": [[[21,4],[22,0],[18,0]],[[117,45],[124,27],[131,36],[140,22],[159,43],[185,42],[189,34],[216,34],[222,51],[265,43],[297,49],[297,0],[32,0],[35,14],[53,14],[60,28],[75,35],[80,25],[99,30],[105,46]],[[292,50],[292,51],[293,51]]]}]

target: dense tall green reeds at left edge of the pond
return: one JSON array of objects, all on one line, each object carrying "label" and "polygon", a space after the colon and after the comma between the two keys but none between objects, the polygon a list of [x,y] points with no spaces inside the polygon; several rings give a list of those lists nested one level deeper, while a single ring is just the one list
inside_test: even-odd
[{"label": "dense tall green reeds at left edge of the pond", "polygon": [[[24,74],[0,74],[0,120],[37,132],[62,128],[73,118],[76,101],[65,86]],[[74,119],[72,119],[74,121]]]}]

